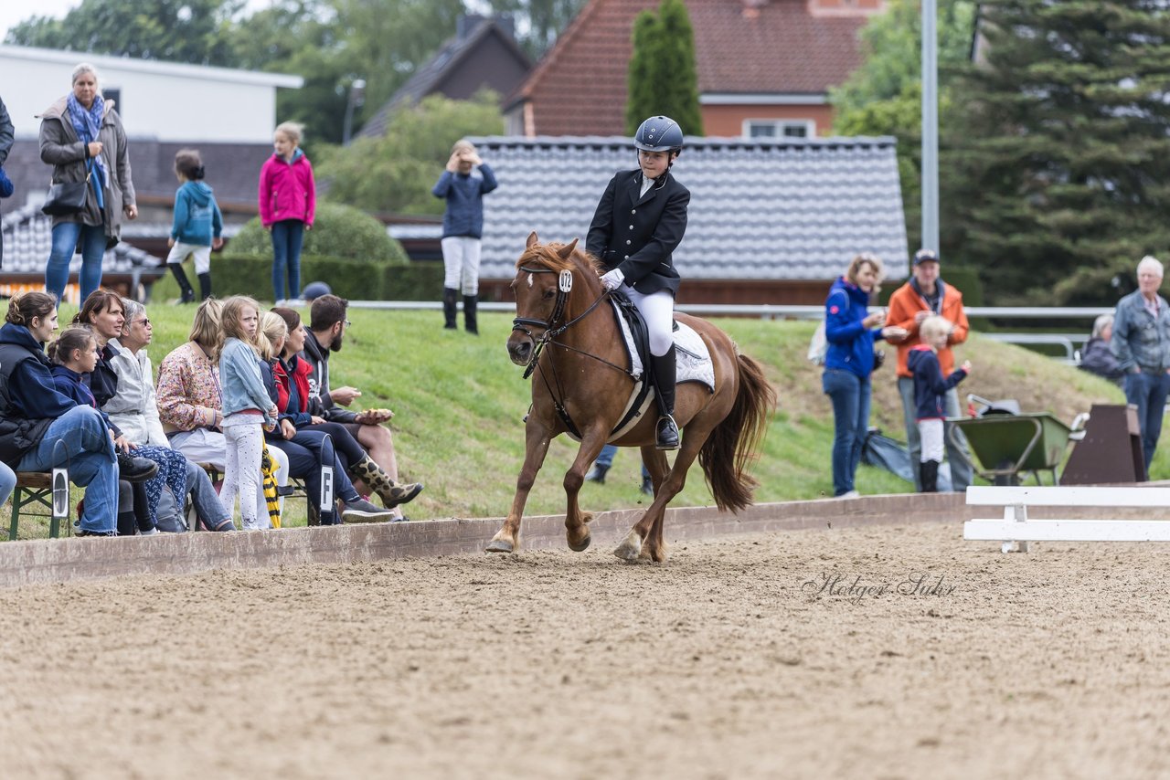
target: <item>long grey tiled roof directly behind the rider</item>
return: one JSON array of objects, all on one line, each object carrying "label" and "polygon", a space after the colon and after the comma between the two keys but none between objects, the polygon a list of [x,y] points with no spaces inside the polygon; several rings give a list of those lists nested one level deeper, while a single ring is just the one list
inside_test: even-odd
[{"label": "long grey tiled roof directly behind the rider", "polygon": [[[584,241],[615,171],[636,166],[624,137],[473,141],[500,187],[483,199],[486,278],[510,278],[530,230]],[[859,251],[909,272],[893,138],[688,138],[674,166],[690,189],[683,279],[831,279]]]}]

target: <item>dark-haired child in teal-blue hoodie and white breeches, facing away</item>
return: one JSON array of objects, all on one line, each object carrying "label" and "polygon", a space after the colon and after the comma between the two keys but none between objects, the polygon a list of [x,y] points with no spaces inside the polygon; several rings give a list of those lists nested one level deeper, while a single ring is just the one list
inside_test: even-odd
[{"label": "dark-haired child in teal-blue hoodie and white breeches, facing away", "polygon": [[212,188],[204,184],[204,163],[197,150],[179,150],[174,156],[174,175],[183,186],[174,193],[174,225],[166,242],[171,247],[166,264],[183,291],[179,303],[191,303],[195,299],[195,291],[183,272],[183,261],[194,256],[199,294],[206,301],[212,296],[212,249],[223,246],[220,237],[223,216]]}]

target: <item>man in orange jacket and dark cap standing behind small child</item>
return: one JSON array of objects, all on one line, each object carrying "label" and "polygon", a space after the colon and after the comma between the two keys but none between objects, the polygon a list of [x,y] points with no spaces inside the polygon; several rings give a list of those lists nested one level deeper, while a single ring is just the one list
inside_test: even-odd
[{"label": "man in orange jacket and dark cap standing behind small child", "polygon": [[[950,338],[947,339],[947,346],[938,351],[938,365],[943,375],[950,375],[955,371],[955,352],[951,347],[966,340],[970,327],[963,309],[963,294],[938,277],[937,253],[932,249],[920,249],[914,255],[913,271],[910,279],[890,296],[886,323],[904,327],[908,333],[897,343],[897,392],[902,396],[902,413],[906,415],[906,442],[910,453],[914,486],[916,490],[922,490],[917,469],[922,448],[915,420],[914,372],[907,367],[906,360],[910,350],[922,343],[918,336],[918,325],[922,320],[930,315],[941,315],[954,326]],[[947,415],[957,417],[961,414],[959,409],[958,392],[951,388],[947,393]],[[963,435],[958,432],[952,434],[951,428],[952,426],[948,423],[944,435],[947,460],[950,461],[951,490],[963,491],[971,484],[971,460]],[[952,435],[958,439],[958,447],[952,441]]]}]

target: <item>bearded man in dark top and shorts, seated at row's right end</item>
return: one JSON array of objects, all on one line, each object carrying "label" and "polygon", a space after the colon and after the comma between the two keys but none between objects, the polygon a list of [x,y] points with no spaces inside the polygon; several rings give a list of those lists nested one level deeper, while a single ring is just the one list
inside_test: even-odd
[{"label": "bearded man in dark top and shorts, seated at row's right end", "polygon": [[350,325],[350,320],[345,318],[349,305],[350,302],[345,298],[323,295],[315,298],[309,309],[309,326],[304,329],[304,350],[301,352],[301,359],[312,367],[309,374],[309,413],[329,422],[340,422],[349,428],[373,462],[397,482],[398,460],[394,457],[394,442],[390,428],[381,424],[388,421],[393,413],[388,409],[351,412],[342,408],[362,395],[360,391],[349,385],[331,389],[329,385],[329,353],[342,350],[345,329]]}]

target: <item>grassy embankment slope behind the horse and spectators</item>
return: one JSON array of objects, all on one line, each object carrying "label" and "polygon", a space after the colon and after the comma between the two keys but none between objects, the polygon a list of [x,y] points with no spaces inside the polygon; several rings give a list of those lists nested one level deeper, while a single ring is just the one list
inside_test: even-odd
[{"label": "grassy embankment slope behind the horse and spectators", "polygon": [[[156,372],[163,357],[181,344],[194,308],[165,303],[149,309],[154,324],[150,347]],[[308,315],[307,311],[302,312]],[[62,311],[62,322],[73,311]],[[390,407],[395,412],[394,441],[405,479],[421,479],[426,491],[407,508],[412,519],[494,517],[508,512],[524,454],[529,382],[504,350],[511,316],[481,313],[481,336],[446,331],[438,312],[350,310],[353,325],[345,346],[333,356],[333,386],[363,392],[353,408]],[[722,319],[741,350],[766,368],[780,403],[764,449],[752,469],[759,502],[818,498],[832,495],[830,451],[833,420],[820,389],[820,370],[805,359],[811,322]],[[894,386],[893,347],[887,365],[874,374],[872,424],[904,439],[901,403]],[[975,365],[961,393],[989,399],[1014,398],[1025,410],[1049,410],[1065,422],[1094,402],[1123,402],[1121,391],[1051,358],[972,334],[959,358]],[[565,436],[553,441],[528,503],[528,515],[564,511],[562,477],[577,444]],[[636,450],[622,450],[605,485],[586,483],[584,509],[635,508],[639,492]],[[1170,456],[1161,453],[1154,478],[1170,476]],[[861,467],[862,493],[907,492],[910,485],[892,474]],[[711,504],[697,464],[674,504]],[[290,508],[290,524],[303,524],[303,511]],[[23,536],[23,533],[21,534]]]}]

